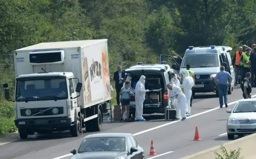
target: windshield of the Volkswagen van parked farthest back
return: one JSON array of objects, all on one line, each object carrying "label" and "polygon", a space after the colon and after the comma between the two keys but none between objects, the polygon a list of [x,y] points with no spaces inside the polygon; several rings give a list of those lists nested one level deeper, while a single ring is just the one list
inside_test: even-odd
[{"label": "windshield of the Volkswagen van parked farthest back", "polygon": [[190,65],[191,68],[198,67],[218,67],[218,56],[214,54],[187,55],[183,59],[182,68]]}]

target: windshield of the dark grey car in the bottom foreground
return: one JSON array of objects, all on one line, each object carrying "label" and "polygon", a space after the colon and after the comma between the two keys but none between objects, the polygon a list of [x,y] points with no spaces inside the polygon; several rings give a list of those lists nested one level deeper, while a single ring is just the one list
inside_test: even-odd
[{"label": "windshield of the dark grey car in the bottom foreground", "polygon": [[84,139],[78,153],[92,151],[125,151],[125,138],[101,137]]}]

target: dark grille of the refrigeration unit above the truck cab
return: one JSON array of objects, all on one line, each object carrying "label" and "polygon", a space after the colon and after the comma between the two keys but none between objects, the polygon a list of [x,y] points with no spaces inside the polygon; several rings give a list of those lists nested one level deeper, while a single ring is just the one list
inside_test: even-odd
[{"label": "dark grille of the refrigeration unit above the truck cab", "polygon": [[52,63],[61,61],[61,52],[29,54],[30,63]]}]

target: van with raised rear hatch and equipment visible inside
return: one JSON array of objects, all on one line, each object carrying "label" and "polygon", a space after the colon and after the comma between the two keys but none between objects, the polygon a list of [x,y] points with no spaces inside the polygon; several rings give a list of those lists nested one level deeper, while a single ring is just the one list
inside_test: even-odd
[{"label": "van with raised rear hatch and equipment visible inside", "polygon": [[[161,64],[143,64],[138,62],[138,65],[125,69],[125,78],[132,77],[131,91],[135,92],[136,83],[140,76],[146,77],[145,89],[150,90],[146,93],[146,99],[143,103],[143,114],[165,113],[165,108],[171,106],[169,100],[169,91],[167,84],[170,83],[170,75],[179,73],[166,64],[166,61],[161,61]],[[135,116],[135,98],[131,96],[130,114]]]}]

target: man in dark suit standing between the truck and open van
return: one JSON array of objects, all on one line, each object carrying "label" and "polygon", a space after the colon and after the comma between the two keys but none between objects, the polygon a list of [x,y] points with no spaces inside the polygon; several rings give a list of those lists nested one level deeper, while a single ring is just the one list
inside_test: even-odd
[{"label": "man in dark suit standing between the truck and open van", "polygon": [[120,105],[120,91],[123,87],[124,71],[121,70],[121,66],[117,66],[117,71],[114,72],[114,80],[116,82],[116,103]]}]

